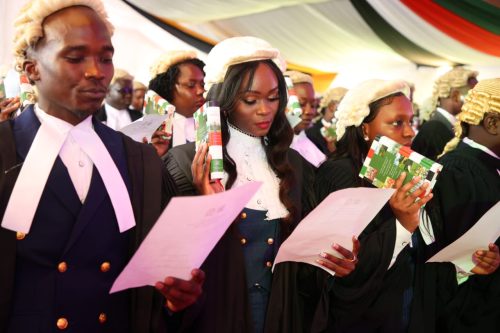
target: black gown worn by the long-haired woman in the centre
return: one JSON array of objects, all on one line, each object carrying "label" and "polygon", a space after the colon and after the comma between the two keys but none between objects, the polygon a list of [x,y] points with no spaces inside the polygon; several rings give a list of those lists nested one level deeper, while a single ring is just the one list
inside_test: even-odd
[{"label": "black gown worn by the long-haired woman in the centre", "polygon": [[[195,144],[187,143],[172,148],[165,157],[165,166],[182,195],[197,194],[191,174],[194,154]],[[288,160],[296,180],[290,197],[299,212],[293,221],[293,228],[315,206],[312,190],[314,171],[293,149],[288,151]],[[181,332],[253,332],[237,222],[229,227],[203,263],[201,269],[206,273],[203,294],[194,306],[184,311]],[[274,287],[271,295],[273,292]]]}]

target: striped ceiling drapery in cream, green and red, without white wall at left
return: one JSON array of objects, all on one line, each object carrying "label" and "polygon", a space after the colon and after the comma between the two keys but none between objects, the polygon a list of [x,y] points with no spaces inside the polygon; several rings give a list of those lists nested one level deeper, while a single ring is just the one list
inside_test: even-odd
[{"label": "striped ceiling drapery in cream, green and red, without white wall at left", "polygon": [[129,2],[213,42],[261,37],[320,71],[500,63],[500,8],[483,0]]}]

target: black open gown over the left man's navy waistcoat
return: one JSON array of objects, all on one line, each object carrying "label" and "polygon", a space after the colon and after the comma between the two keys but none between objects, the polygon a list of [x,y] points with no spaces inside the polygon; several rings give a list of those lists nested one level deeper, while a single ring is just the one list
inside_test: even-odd
[{"label": "black open gown over the left man's navy waistcoat", "polygon": [[[14,121],[20,124],[16,127],[19,133],[12,130]],[[131,185],[131,202],[136,219],[136,226],[130,231],[129,237],[128,250],[131,256],[177,189],[171,177],[161,167],[161,161],[151,147],[134,142],[98,121],[94,120],[93,123],[96,132],[106,139],[105,144],[108,149],[116,140],[123,141]],[[32,107],[25,110],[17,119],[0,123],[0,216],[3,216],[23,161],[18,154],[19,149],[22,148],[25,152],[29,150],[39,126],[40,123]],[[15,138],[25,142],[20,143]],[[16,242],[15,232],[0,228],[0,332],[4,331],[9,321],[12,305],[12,292],[16,281]],[[176,319],[177,315],[170,316],[164,308],[164,303],[164,298],[152,287],[132,290],[131,317],[124,318],[130,321],[131,332],[163,333],[169,324],[175,325],[172,319]]]}]

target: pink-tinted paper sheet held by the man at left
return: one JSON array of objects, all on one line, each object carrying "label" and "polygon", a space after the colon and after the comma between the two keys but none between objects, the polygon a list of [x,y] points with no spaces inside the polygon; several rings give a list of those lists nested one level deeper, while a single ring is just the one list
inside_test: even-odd
[{"label": "pink-tinted paper sheet held by the man at left", "polygon": [[167,276],[184,280],[199,268],[262,183],[226,192],[175,197],[115,280],[110,293],[153,286]]}]

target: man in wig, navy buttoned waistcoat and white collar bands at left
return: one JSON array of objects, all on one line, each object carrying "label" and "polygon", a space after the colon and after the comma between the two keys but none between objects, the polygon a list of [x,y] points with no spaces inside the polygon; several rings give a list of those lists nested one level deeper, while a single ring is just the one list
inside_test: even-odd
[{"label": "man in wig, navy buttoned waistcoat and white collar bands at left", "polygon": [[38,102],[0,123],[0,332],[163,333],[204,274],[109,294],[176,187],[151,147],[94,117],[114,71],[103,4],[35,0],[16,28]]}]

